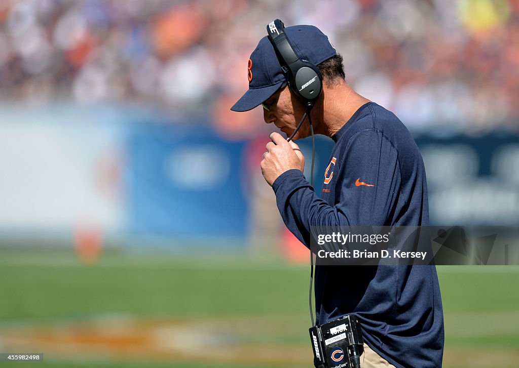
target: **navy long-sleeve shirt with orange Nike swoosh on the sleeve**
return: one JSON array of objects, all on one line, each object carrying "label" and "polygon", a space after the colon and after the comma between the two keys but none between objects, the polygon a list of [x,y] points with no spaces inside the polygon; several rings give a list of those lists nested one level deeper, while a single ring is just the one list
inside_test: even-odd
[{"label": "navy long-sleeve shirt with orange Nike swoosh on the sleeve", "polygon": [[[429,225],[424,163],[392,112],[367,103],[333,137],[319,198],[303,173],[272,185],[284,223],[310,247],[311,226]],[[316,321],[346,314],[364,340],[397,367],[441,367],[443,311],[434,266],[316,265]]]}]

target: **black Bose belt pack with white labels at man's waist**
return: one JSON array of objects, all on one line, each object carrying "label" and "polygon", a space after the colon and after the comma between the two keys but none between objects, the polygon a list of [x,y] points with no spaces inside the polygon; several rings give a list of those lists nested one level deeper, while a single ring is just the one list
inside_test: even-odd
[{"label": "black Bose belt pack with white labels at man's waist", "polygon": [[347,315],[308,331],[316,368],[360,368],[364,339],[356,316]]}]

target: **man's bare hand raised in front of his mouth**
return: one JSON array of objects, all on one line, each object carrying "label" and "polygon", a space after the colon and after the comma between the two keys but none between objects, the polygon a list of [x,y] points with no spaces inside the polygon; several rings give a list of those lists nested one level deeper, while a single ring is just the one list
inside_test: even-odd
[{"label": "man's bare hand raised in front of his mouth", "polygon": [[274,143],[267,143],[267,152],[263,154],[263,161],[261,162],[261,172],[265,180],[272,186],[278,176],[285,171],[295,168],[303,172],[305,157],[298,145],[293,141],[287,142],[281,134],[272,133],[270,139]]}]

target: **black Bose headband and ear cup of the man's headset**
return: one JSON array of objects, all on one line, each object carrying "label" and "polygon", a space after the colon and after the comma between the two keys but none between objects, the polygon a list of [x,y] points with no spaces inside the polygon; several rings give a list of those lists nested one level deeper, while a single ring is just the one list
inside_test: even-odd
[{"label": "black Bose headband and ear cup of the man's headset", "polygon": [[274,46],[289,87],[303,102],[312,106],[322,91],[321,71],[297,55],[284,28],[283,22],[279,19],[270,22],[267,25],[268,38]]}]

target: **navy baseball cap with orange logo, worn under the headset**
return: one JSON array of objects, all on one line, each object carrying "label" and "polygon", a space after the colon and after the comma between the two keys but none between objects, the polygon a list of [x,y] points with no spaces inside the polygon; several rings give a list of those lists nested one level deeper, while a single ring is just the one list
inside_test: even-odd
[{"label": "navy baseball cap with orange logo, worn under the headset", "polygon": [[[313,25],[294,25],[284,29],[299,58],[317,65],[337,52],[328,37]],[[248,64],[249,90],[230,109],[249,111],[265,102],[286,78],[281,70],[274,46],[263,37],[252,52]]]}]

